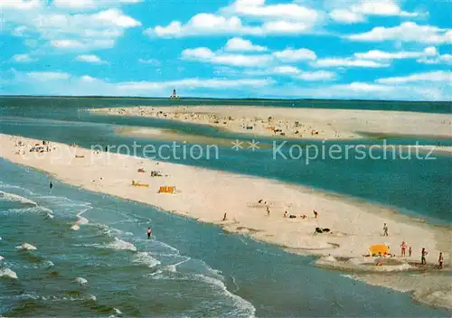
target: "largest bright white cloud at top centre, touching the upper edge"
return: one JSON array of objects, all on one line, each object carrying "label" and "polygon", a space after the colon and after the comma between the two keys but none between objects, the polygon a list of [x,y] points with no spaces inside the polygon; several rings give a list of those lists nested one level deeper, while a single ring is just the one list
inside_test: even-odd
[{"label": "largest bright white cloud at top centre, touching the upper edge", "polygon": [[[241,18],[258,23],[244,24]],[[221,8],[220,14],[195,14],[187,23],[173,21],[166,26],[146,29],[150,36],[166,38],[193,35],[237,34],[299,34],[313,28],[318,13],[295,3],[266,5],[263,0],[236,0]]]}]

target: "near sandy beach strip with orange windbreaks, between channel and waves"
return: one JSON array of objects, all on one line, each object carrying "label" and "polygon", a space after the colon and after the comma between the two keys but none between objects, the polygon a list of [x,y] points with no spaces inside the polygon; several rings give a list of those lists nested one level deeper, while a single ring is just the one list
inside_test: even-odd
[{"label": "near sandy beach strip with orange windbreaks, between channel and waves", "polygon": [[[49,152],[36,153],[29,150],[42,145],[42,141],[7,135],[0,135],[0,140],[0,156],[15,164],[42,170],[52,174],[56,180],[89,191],[150,204],[161,210],[217,224],[227,232],[249,235],[294,253],[322,257],[317,261],[318,266],[378,272],[381,275],[394,271],[435,274],[439,272],[435,266],[442,251],[446,267],[441,273],[451,270],[450,227],[433,226],[383,206],[247,175],[57,143],[43,145],[45,150],[49,146]],[[48,184],[42,186],[48,187]],[[162,186],[174,187],[175,192],[159,193]],[[318,218],[315,218],[313,210],[318,211]],[[285,211],[287,217],[284,217]],[[226,220],[223,220],[225,214]],[[290,218],[290,215],[296,218]],[[382,236],[384,223],[388,224],[388,237]],[[72,229],[82,226],[82,223],[74,224]],[[315,233],[316,228],[330,231]],[[400,257],[402,241],[412,247],[411,257]],[[396,256],[363,257],[369,254],[369,246],[373,244],[388,245],[391,254]],[[427,261],[431,267],[416,266],[421,248],[428,250]],[[377,263],[381,266],[376,266]],[[397,281],[394,277],[391,285],[387,286],[396,288],[394,282]],[[444,276],[443,282],[452,283],[452,277]],[[416,291],[417,284],[414,281],[411,290]],[[384,282],[381,285],[385,285]],[[429,287],[438,292],[435,288],[438,285]],[[439,305],[452,308],[452,299],[446,298],[449,303],[444,300],[450,293],[445,288],[441,287],[438,292]],[[438,297],[431,297],[429,304],[436,304]]]}]

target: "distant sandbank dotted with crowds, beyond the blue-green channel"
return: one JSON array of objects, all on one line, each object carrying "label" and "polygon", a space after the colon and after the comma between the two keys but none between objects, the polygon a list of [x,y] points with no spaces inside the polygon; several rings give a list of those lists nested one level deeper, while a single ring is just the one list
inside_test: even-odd
[{"label": "distant sandbank dotted with crowds, beyond the blue-green channel", "polygon": [[171,119],[254,136],[334,140],[359,139],[368,133],[452,138],[452,116],[447,114],[237,106],[96,108],[90,111]]}]

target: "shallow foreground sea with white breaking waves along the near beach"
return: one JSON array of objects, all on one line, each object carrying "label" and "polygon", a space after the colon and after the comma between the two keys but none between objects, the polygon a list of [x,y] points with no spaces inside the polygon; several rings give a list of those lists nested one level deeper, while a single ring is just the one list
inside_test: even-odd
[{"label": "shallow foreground sea with white breaking waves along the near beach", "polygon": [[311,257],[60,182],[50,193],[48,181],[0,160],[1,315],[447,315]]}]

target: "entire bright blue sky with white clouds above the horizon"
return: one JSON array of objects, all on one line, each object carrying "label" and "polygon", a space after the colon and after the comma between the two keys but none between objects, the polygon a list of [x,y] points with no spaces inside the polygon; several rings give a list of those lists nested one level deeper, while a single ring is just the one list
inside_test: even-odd
[{"label": "entire bright blue sky with white clouds above the horizon", "polygon": [[446,0],[0,0],[0,94],[452,98]]}]

